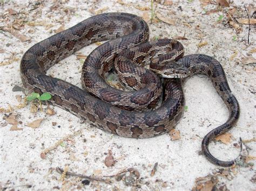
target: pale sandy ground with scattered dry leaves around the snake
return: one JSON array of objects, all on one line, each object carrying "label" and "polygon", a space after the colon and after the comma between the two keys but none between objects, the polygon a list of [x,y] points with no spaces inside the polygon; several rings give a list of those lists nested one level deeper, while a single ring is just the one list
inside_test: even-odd
[{"label": "pale sandy ground with scattered dry leaves around the snake", "polygon": [[[220,8],[207,1],[163,2],[155,2],[154,8],[172,24],[156,18],[151,24],[147,18],[151,16],[148,1],[4,1],[0,8],[1,189],[190,190],[194,187],[198,190],[255,190],[255,160],[252,159],[256,155],[256,36],[255,26],[251,25],[248,44],[248,25],[237,23],[237,18],[247,18],[244,3],[233,1],[230,7]],[[253,0],[244,2],[246,8],[252,8]],[[235,12],[229,12],[228,16],[227,12],[233,8]],[[48,115],[46,105],[43,111],[32,112],[31,103],[22,104],[26,94],[13,88],[23,87],[19,62],[25,51],[56,30],[68,29],[101,12],[143,16],[149,23],[151,39],[185,37],[187,40],[180,40],[185,54],[204,53],[221,62],[240,103],[241,115],[222,142],[211,143],[210,150],[219,159],[231,160],[239,154],[239,137],[247,140],[248,153],[244,146],[246,161],[241,166],[221,168],[200,154],[201,140],[206,133],[228,117],[224,102],[204,76],[192,76],[184,84],[187,111],[176,127],[180,132],[178,140],[171,140],[170,135],[150,139],[118,137],[91,128],[60,108],[51,107],[56,114]],[[252,14],[251,9],[249,13]],[[238,26],[232,26],[231,17]],[[80,87],[81,55],[88,55],[96,46],[85,47],[79,55],[60,61],[48,74]],[[27,126],[36,119],[44,119],[38,128]],[[253,138],[254,142],[250,142]],[[112,167],[104,163],[109,150],[116,160]],[[157,171],[151,176],[156,162]],[[140,177],[136,181],[134,173],[126,173],[120,181],[112,178],[110,184],[89,182],[60,175],[56,167],[101,178],[132,167],[138,170]]]}]

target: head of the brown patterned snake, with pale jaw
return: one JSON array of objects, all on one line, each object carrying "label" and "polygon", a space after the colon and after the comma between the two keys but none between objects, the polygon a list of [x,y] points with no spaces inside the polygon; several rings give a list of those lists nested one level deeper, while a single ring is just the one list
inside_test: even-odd
[{"label": "head of the brown patterned snake, with pale jaw", "polygon": [[184,78],[189,75],[188,69],[175,61],[168,61],[161,65],[151,64],[150,70],[164,78]]}]

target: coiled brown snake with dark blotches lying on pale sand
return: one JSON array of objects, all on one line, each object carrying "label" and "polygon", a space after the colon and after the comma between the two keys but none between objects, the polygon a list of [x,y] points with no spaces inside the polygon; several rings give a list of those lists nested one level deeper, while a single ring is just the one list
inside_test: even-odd
[{"label": "coiled brown snake with dark blotches lying on pale sand", "polygon": [[[83,89],[46,74],[51,66],[82,47],[104,40],[108,41],[94,49],[84,62]],[[201,150],[213,164],[232,166],[235,160],[215,158],[208,145],[238,121],[238,101],[216,59],[204,54],[183,56],[183,49],[172,39],[150,42],[149,26],[139,16],[102,13],[29,48],[21,60],[21,79],[30,92],[50,93],[52,98],[46,103],[69,111],[92,127],[123,137],[150,138],[169,132],[183,116],[183,79],[204,74],[211,79],[230,115],[224,124],[207,133]],[[151,70],[143,67],[146,65]],[[130,90],[122,91],[106,83],[111,70],[116,70]],[[159,75],[164,80],[159,80]],[[159,97],[163,99],[160,106]]]}]

